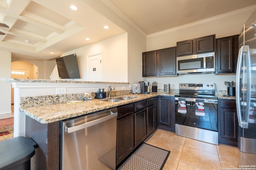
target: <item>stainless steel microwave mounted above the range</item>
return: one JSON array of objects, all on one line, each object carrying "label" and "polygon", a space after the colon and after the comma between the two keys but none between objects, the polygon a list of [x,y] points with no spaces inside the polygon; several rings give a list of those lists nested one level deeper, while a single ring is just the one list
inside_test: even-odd
[{"label": "stainless steel microwave mounted above the range", "polygon": [[215,73],[215,53],[177,57],[178,74]]}]

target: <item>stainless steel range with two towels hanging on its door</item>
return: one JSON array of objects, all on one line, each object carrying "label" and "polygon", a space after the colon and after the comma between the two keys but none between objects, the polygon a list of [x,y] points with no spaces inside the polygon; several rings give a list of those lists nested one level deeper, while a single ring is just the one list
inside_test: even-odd
[{"label": "stainless steel range with two towels hanging on its door", "polygon": [[175,95],[175,134],[218,145],[214,83],[180,83]]}]

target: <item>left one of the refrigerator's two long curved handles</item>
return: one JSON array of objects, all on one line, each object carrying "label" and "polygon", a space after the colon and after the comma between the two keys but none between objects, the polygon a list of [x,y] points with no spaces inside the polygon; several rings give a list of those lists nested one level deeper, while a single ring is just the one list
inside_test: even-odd
[{"label": "left one of the refrigerator's two long curved handles", "polygon": [[242,48],[239,49],[239,55],[238,55],[238,61],[236,66],[236,113],[238,117],[238,125],[241,126],[241,119],[242,119],[242,113],[241,113],[241,101],[240,101],[240,89],[241,87],[241,68],[242,68]]}]

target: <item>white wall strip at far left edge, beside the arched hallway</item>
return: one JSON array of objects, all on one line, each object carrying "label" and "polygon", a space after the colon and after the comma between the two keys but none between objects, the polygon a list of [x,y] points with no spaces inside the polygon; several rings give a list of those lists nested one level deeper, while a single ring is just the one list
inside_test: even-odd
[{"label": "white wall strip at far left edge, beside the arched hallway", "polygon": [[0,50],[0,114],[12,113],[11,109],[11,52]]}]

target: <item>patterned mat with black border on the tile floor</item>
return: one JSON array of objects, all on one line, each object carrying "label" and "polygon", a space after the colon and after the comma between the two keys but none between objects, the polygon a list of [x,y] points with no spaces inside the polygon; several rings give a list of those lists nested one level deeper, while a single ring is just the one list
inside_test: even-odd
[{"label": "patterned mat with black border on the tile floor", "polygon": [[142,143],[118,170],[162,170],[170,151]]}]

